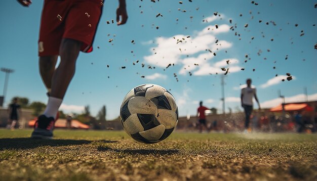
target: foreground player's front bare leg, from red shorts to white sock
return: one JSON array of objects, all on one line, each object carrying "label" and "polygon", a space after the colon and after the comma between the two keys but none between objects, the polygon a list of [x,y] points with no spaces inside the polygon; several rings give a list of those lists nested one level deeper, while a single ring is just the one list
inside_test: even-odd
[{"label": "foreground player's front bare leg, from red shorts to white sock", "polygon": [[61,62],[52,78],[51,96],[63,99],[67,87],[75,73],[75,63],[81,49],[82,42],[73,39],[62,39],[60,46]]}]

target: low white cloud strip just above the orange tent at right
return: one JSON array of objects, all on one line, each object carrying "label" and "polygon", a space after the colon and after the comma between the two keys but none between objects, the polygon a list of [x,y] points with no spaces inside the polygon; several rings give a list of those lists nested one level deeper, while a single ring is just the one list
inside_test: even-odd
[{"label": "low white cloud strip just above the orange tent at right", "polygon": [[[306,96],[304,94],[295,95],[292,97],[285,97],[285,103],[296,103],[296,102],[305,102]],[[317,93],[308,95],[308,101],[317,101]],[[261,107],[263,108],[271,108],[282,104],[281,98],[276,98],[268,101],[264,101],[261,103]]]}]

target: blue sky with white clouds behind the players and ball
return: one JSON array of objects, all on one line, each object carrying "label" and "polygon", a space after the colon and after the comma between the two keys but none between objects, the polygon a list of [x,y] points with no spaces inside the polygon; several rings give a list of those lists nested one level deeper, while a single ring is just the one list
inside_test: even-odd
[{"label": "blue sky with white clouds behind the players and ball", "polygon": [[[81,112],[90,105],[96,115],[106,105],[107,118],[113,119],[119,115],[121,102],[130,89],[154,83],[171,89],[180,116],[194,115],[200,100],[221,112],[220,77],[225,73],[221,68],[229,68],[225,76],[227,112],[228,108],[241,109],[240,88],[247,78],[253,79],[262,107],[281,103],[279,90],[288,102],[303,101],[307,87],[308,99],[317,100],[317,50],[313,49],[317,43],[317,2],[255,2],[257,6],[251,1],[234,0],[193,0],[183,4],[129,0],[128,22],[116,26],[106,21],[115,19],[117,1],[105,1],[94,51],[78,57],[61,109],[66,113]],[[4,1],[0,7],[0,67],[15,70],[10,74],[6,104],[14,96],[47,102],[37,57],[42,7],[42,1],[33,1],[29,8],[16,1]],[[218,15],[214,16],[214,12]],[[163,17],[156,17],[158,13]],[[182,42],[177,43],[177,39]],[[166,69],[170,63],[174,66]],[[283,82],[286,73],[291,73],[293,80]],[[4,80],[5,73],[0,72],[0,93]]]}]

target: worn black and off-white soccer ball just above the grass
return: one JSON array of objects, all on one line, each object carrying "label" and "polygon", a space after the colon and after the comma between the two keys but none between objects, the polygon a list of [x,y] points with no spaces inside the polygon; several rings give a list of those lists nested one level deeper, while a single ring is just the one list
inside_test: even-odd
[{"label": "worn black and off-white soccer ball just above the grass", "polygon": [[160,85],[143,84],[123,99],[121,123],[136,141],[152,144],[165,140],[178,122],[178,108],[172,94]]}]

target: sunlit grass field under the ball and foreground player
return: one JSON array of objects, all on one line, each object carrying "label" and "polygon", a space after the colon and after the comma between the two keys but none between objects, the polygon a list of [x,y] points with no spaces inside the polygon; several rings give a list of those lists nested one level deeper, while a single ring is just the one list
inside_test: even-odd
[{"label": "sunlit grass field under the ball and foreground player", "polygon": [[174,132],[153,145],[123,131],[0,130],[0,180],[316,180],[316,134]]}]

